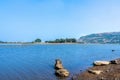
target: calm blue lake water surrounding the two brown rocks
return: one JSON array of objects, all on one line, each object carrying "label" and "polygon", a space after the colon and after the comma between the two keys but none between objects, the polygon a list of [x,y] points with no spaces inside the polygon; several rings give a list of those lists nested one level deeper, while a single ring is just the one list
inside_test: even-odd
[{"label": "calm blue lake water surrounding the two brown rocks", "polygon": [[54,75],[55,59],[61,59],[74,75],[91,67],[95,60],[119,57],[120,45],[0,45],[0,80],[68,80]]}]

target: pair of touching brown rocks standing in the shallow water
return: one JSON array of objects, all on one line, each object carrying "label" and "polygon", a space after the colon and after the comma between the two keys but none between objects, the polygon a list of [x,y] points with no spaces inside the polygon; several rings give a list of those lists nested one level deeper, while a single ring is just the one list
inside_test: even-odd
[{"label": "pair of touching brown rocks standing in the shallow water", "polygon": [[70,74],[69,71],[63,67],[62,61],[60,59],[56,59],[55,74],[59,77],[68,77]]}]

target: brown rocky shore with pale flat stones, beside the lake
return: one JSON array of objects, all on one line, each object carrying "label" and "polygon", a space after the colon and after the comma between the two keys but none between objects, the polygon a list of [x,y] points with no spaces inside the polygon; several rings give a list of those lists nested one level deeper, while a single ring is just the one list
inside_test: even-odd
[{"label": "brown rocky shore with pale flat stones, beside the lake", "polygon": [[120,80],[120,59],[97,61],[93,67],[72,77],[71,80]]}]

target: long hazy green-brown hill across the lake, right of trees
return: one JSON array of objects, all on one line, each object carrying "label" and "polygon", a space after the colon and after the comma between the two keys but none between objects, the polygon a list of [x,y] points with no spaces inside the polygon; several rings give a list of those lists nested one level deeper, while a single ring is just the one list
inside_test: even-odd
[{"label": "long hazy green-brown hill across the lake, right of trees", "polygon": [[78,41],[82,43],[118,44],[120,43],[120,32],[90,34],[80,37]]}]

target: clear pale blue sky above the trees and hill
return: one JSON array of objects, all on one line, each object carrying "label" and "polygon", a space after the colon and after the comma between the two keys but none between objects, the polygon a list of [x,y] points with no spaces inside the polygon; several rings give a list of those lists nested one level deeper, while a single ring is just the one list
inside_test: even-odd
[{"label": "clear pale blue sky above the trees and hill", "polygon": [[0,0],[0,40],[120,31],[120,0]]}]

